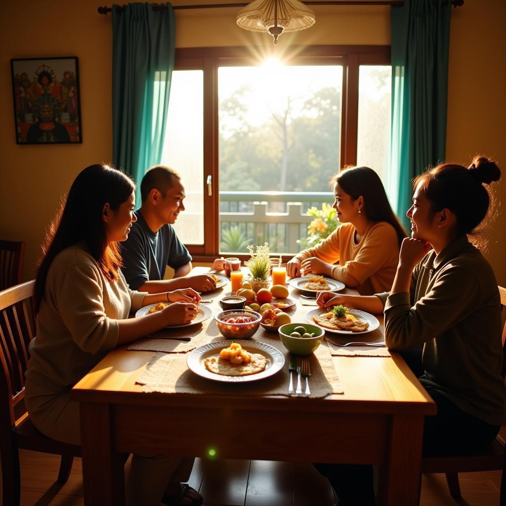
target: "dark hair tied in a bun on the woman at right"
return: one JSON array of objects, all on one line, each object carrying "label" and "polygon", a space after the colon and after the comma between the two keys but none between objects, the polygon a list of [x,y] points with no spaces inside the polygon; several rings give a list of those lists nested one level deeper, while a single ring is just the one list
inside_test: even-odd
[{"label": "dark hair tied in a bun on the woman at right", "polygon": [[[457,234],[478,238],[487,226],[488,220],[482,224],[485,216],[494,207],[493,193],[483,184],[489,185],[500,177],[497,164],[487,156],[478,155],[469,167],[441,163],[429,168],[413,179],[413,190],[421,183],[433,213],[445,207],[450,209],[457,220]],[[480,247],[485,245],[481,240],[474,242]]]}]

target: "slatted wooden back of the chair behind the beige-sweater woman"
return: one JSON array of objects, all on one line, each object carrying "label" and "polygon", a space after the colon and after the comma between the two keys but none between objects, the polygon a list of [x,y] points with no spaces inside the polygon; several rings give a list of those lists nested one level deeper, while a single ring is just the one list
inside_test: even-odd
[{"label": "slatted wooden back of the chair behind the beige-sweater woman", "polygon": [[0,426],[14,428],[16,405],[24,399],[28,345],[35,335],[33,285],[27,281],[0,291]]}]

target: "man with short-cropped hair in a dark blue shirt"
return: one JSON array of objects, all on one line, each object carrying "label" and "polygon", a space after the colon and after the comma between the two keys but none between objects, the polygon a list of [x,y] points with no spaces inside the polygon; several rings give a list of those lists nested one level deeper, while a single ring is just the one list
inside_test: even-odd
[{"label": "man with short-cropped hair in a dark blue shirt", "polygon": [[[141,182],[141,198],[137,221],[121,243],[122,271],[130,288],[149,293],[188,287],[200,292],[214,289],[216,281],[207,274],[187,276],[192,257],[172,228],[185,210],[180,175],[163,165],[151,167]],[[163,279],[167,265],[175,271],[173,279]]]}]

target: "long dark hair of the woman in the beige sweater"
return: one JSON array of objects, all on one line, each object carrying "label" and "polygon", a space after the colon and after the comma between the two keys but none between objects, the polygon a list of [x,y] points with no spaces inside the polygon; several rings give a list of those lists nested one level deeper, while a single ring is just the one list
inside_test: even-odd
[{"label": "long dark hair of the woman in the beige sweater", "polygon": [[33,288],[36,312],[44,297],[51,263],[60,251],[78,242],[86,244],[107,279],[117,279],[122,266],[121,255],[117,243],[107,241],[102,211],[106,202],[112,210],[118,209],[134,190],[134,182],[109,165],[90,165],[77,175],[50,225],[42,248],[43,256]]}]

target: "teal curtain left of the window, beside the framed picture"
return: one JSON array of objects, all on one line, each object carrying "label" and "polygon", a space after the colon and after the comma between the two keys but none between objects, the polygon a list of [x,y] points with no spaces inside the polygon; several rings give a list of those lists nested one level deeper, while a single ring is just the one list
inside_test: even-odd
[{"label": "teal curtain left of the window, beside the framed picture", "polygon": [[175,59],[172,5],[112,7],[113,162],[134,177],[136,205],[146,169],[161,162]]}]

